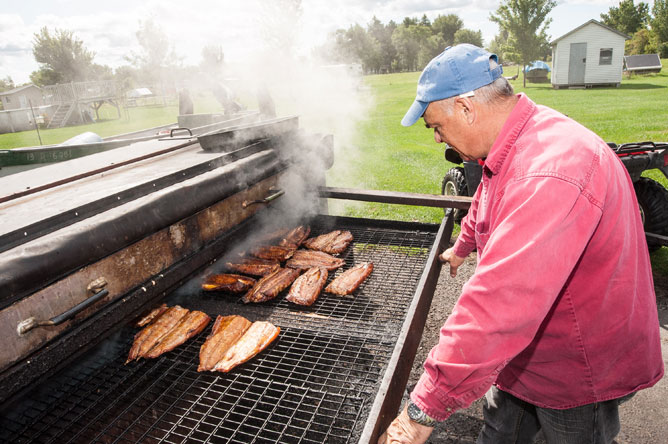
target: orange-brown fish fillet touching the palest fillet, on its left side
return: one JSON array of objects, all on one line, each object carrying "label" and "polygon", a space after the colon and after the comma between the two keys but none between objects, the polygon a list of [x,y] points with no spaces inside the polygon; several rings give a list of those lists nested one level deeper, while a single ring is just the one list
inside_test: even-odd
[{"label": "orange-brown fish fillet touching the palest fillet, on its left side", "polygon": [[198,372],[213,370],[215,365],[225,356],[225,353],[246,333],[251,321],[232,315],[218,316],[213,324],[211,334],[199,350]]}]

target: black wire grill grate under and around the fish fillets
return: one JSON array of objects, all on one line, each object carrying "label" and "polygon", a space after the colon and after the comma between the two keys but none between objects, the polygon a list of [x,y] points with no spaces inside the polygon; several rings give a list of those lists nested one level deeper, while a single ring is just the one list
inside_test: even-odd
[{"label": "black wire grill grate under and around the fish fillets", "polygon": [[[326,231],[330,219],[320,219],[314,233]],[[323,294],[312,307],[300,307],[280,295],[268,304],[243,305],[185,291],[201,276],[168,297],[212,318],[236,313],[280,326],[279,338],[251,361],[227,374],[198,373],[209,327],[158,359],[124,365],[136,332],[124,327],[3,413],[0,441],[357,441],[435,237],[364,222],[337,219],[337,228],[355,238],[342,256],[344,269],[374,263],[354,297]]]}]

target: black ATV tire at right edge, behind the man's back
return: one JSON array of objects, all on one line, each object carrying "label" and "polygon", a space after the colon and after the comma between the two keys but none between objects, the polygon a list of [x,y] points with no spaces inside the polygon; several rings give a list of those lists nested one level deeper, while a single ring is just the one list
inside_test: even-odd
[{"label": "black ATV tire at right edge, behind the man's back", "polygon": [[[640,217],[647,233],[668,235],[668,190],[660,183],[641,177],[633,183],[640,206]],[[661,248],[661,243],[647,238],[649,251]]]}]

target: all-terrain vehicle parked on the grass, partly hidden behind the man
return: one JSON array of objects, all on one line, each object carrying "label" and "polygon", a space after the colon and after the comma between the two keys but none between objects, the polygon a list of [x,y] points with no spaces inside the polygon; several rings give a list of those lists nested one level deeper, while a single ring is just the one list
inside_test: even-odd
[{"label": "all-terrain vehicle parked on the grass, partly hidden behind the man", "polygon": [[[608,146],[617,153],[633,180],[649,250],[668,245],[668,190],[659,182],[641,176],[644,171],[658,169],[668,178],[668,143],[608,143]],[[446,173],[441,193],[473,196],[482,179],[482,163],[462,161],[459,154],[447,145],[445,159],[461,166],[450,168]],[[445,211],[446,214],[454,211],[456,222],[466,215],[466,210],[446,208]]]}]

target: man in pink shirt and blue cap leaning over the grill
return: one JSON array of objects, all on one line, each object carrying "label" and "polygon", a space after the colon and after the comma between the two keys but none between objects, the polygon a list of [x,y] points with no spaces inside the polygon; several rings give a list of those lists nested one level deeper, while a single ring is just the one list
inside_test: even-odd
[{"label": "man in pink shirt and blue cap leaning over the grill", "polygon": [[663,376],[649,254],[633,185],[596,134],[515,95],[496,55],[447,48],[402,120],[483,177],[454,246],[473,277],[410,402],[379,443],[423,443],[485,395],[478,443],[611,443],[618,405]]}]

